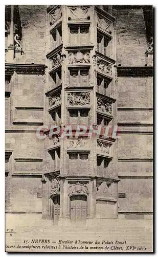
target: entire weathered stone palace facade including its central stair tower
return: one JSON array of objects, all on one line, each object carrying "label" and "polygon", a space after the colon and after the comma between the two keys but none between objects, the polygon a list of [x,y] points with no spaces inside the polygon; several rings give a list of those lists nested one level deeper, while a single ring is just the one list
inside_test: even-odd
[{"label": "entire weathered stone palace facade including its central stair tower", "polygon": [[[150,19],[143,6],[6,6],[7,214],[152,219]],[[39,139],[43,125],[73,135]],[[75,138],[77,125],[119,136]]]}]

